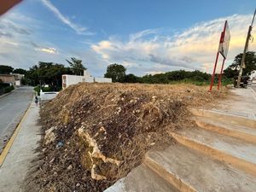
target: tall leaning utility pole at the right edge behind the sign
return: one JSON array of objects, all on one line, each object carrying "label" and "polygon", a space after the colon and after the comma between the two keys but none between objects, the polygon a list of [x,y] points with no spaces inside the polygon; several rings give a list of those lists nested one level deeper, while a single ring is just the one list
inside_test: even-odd
[{"label": "tall leaning utility pole at the right edge behind the sign", "polygon": [[246,57],[246,54],[247,54],[249,40],[252,37],[251,32],[252,32],[252,29],[253,29],[253,21],[254,21],[255,14],[256,14],[256,9],[254,10],[252,24],[251,24],[251,26],[249,26],[249,29],[248,29],[248,32],[247,32],[247,40],[246,40],[246,44],[244,45],[243,54],[242,54],[242,57],[241,57],[240,70],[239,70],[239,74],[238,74],[238,78],[237,78],[237,84],[236,84],[236,87],[238,87],[238,88],[240,87],[242,69],[246,67],[245,66],[245,57]]}]

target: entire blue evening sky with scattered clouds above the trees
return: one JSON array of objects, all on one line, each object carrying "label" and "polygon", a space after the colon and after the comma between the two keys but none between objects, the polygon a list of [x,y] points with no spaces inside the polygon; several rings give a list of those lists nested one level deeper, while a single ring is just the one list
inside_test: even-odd
[{"label": "entire blue evening sky with scattered clouds above the trees", "polygon": [[231,35],[227,67],[243,51],[255,8],[255,0],[24,0],[0,16],[0,65],[67,66],[76,57],[96,77],[112,63],[139,76],[212,73],[224,21]]}]

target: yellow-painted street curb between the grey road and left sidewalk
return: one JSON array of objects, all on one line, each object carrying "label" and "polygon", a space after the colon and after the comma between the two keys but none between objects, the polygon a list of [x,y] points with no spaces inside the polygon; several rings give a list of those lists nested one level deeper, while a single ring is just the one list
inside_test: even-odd
[{"label": "yellow-painted street curb between the grey road and left sidewalk", "polygon": [[23,123],[24,119],[26,119],[27,113],[29,111],[29,108],[31,108],[32,102],[30,103],[29,107],[26,108],[26,113],[24,113],[22,119],[20,120],[20,123],[16,126],[15,132],[13,133],[12,137],[9,139],[9,142],[6,144],[6,146],[3,148],[2,154],[0,154],[0,167],[3,166],[3,162],[9,153],[9,149],[12,147],[13,143],[15,142],[15,138],[17,137],[19,131],[20,131],[20,126]]}]

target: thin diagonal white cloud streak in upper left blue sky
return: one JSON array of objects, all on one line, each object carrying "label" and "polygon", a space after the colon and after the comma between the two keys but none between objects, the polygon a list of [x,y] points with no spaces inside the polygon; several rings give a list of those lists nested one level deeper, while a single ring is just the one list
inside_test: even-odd
[{"label": "thin diagonal white cloud streak in upper left blue sky", "polygon": [[63,22],[64,24],[66,24],[67,26],[71,27],[75,32],[77,32],[78,34],[82,34],[82,35],[91,35],[93,33],[91,32],[87,32],[87,28],[83,27],[83,26],[78,26],[77,24],[73,23],[71,20],[69,20],[67,18],[67,16],[62,15],[60,10],[57,9],[53,3],[51,3],[49,0],[41,0],[42,3],[44,3],[44,5],[54,13],[54,15],[61,20],[61,22]]}]

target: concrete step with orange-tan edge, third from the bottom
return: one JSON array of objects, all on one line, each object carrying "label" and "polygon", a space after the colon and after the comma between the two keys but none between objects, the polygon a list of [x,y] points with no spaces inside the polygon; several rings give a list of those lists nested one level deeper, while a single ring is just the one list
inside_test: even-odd
[{"label": "concrete step with orange-tan edge, third from the bottom", "polygon": [[256,175],[256,145],[217,132],[187,128],[171,132],[178,143]]}]

